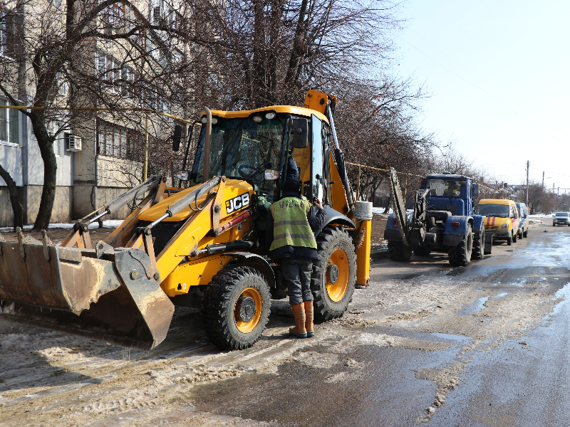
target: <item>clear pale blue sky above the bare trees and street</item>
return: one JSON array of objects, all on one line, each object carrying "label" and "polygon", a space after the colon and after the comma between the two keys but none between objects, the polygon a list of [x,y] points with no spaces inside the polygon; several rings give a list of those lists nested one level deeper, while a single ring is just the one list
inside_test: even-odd
[{"label": "clear pale blue sky above the bare trees and street", "polygon": [[408,0],[400,16],[425,130],[500,181],[524,183],[529,160],[531,180],[570,189],[570,1]]}]

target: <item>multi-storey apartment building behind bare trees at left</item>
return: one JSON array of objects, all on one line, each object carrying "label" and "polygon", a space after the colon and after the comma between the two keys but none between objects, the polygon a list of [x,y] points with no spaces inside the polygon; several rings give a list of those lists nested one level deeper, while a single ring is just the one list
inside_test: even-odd
[{"label": "multi-storey apartment building behind bare trees at left", "polygon": [[[83,1],[76,16],[81,19],[99,4],[98,0]],[[41,37],[41,43],[49,36],[56,40],[65,34],[65,6],[61,0],[0,1],[0,84],[19,105],[33,105],[41,89],[26,46],[32,45],[33,38]],[[46,130],[53,137],[57,164],[51,222],[81,218],[138,183],[145,140],[167,139],[172,120],[135,111],[147,108],[172,113],[168,88],[160,87],[167,77],[163,73],[155,78],[154,70],[166,68],[162,41],[167,37],[160,31],[136,28],[157,23],[172,26],[177,18],[179,11],[166,0],[117,1],[98,11],[90,37],[73,45],[76,53],[71,60],[62,60],[49,103],[43,104],[52,107],[46,112]],[[133,28],[133,35],[123,40],[105,38],[133,32]],[[0,106],[12,104],[0,91]],[[85,107],[98,110],[86,112]],[[43,160],[31,119],[19,110],[0,108],[0,165],[18,187],[24,223],[33,223],[43,188]],[[126,214],[128,208],[118,216]],[[0,178],[0,226],[11,226],[12,221],[9,192]]]}]

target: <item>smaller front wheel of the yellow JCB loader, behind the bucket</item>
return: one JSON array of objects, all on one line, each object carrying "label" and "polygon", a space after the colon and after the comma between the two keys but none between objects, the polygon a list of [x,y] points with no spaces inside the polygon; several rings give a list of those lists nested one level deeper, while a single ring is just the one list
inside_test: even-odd
[{"label": "smaller front wheel of the yellow JCB loader, behind the bucket", "polygon": [[252,347],[265,330],[270,308],[269,285],[258,270],[243,265],[224,268],[204,291],[206,334],[222,349]]}]

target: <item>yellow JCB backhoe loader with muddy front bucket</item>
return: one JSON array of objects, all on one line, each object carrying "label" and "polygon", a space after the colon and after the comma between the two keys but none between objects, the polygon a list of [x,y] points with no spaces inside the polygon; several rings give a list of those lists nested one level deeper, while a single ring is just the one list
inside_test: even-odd
[{"label": "yellow JCB backhoe loader with muddy front bucket", "polygon": [[[151,176],[77,221],[61,246],[45,232],[38,241],[20,230],[17,243],[0,242],[2,315],[151,349],[165,339],[175,306],[195,307],[214,344],[250,347],[266,327],[271,298],[286,297],[279,265],[266,257],[265,226],[291,155],[304,195],[326,209],[315,233],[316,317],[343,315],[355,285],[368,285],[372,214],[348,182],[335,106],[336,97],[311,90],[304,107],[206,108],[189,135],[176,126],[172,148],[188,138],[178,187]],[[88,225],[131,201],[130,216],[92,246]]]}]

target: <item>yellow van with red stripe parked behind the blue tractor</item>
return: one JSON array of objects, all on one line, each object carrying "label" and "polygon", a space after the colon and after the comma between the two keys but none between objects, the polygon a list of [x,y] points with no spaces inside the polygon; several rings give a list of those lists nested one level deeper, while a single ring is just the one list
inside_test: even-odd
[{"label": "yellow van with red stripe parked behind the blue tractor", "polygon": [[477,215],[485,216],[485,233],[493,235],[494,241],[517,242],[519,211],[514,201],[508,199],[482,199],[477,206]]}]

